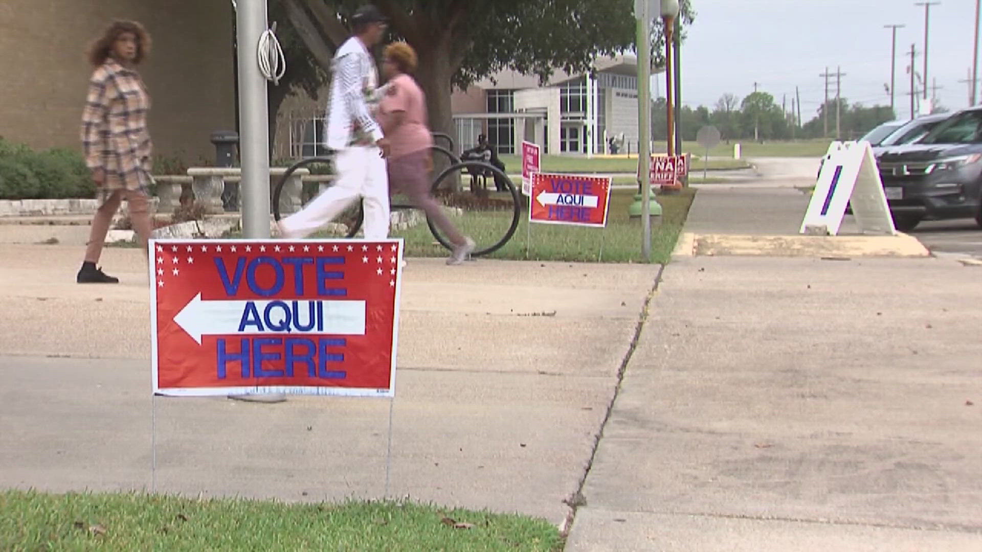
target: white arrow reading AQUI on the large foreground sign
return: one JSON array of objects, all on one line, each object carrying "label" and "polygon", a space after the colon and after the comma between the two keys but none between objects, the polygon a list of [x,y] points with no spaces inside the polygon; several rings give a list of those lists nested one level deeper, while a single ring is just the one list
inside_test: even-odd
[{"label": "white arrow reading AQUI on the large foreground sign", "polygon": [[[248,304],[255,305],[255,312],[263,331],[251,323],[243,327]],[[273,305],[270,307],[270,305]],[[311,312],[313,313],[311,316]],[[188,335],[201,345],[203,335],[257,335],[257,334],[328,334],[364,335],[365,302],[319,300],[257,300],[257,301],[201,301],[201,294],[194,296],[181,312],[174,316]],[[311,322],[313,322],[311,324]],[[267,326],[272,325],[278,330]],[[299,328],[298,325],[303,326]],[[309,329],[306,326],[311,326]],[[243,327],[240,330],[240,327]]]}]

